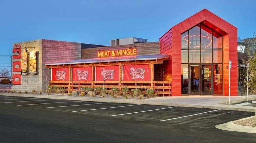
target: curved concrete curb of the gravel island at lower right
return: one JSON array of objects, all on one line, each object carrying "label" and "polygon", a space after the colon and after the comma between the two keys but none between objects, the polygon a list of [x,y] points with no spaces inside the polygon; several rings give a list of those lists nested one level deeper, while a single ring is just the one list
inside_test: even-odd
[{"label": "curved concrete curb of the gravel island at lower right", "polygon": [[[241,121],[241,120],[245,120],[245,119],[249,119],[249,118],[253,118],[253,117],[255,117],[255,116],[251,116],[251,117],[247,117],[247,118],[243,118],[243,119],[239,119],[239,120],[235,120],[235,121]],[[221,130],[226,130],[226,131],[256,133],[256,127],[237,125],[237,124],[233,123],[235,121],[230,121],[228,123],[220,124],[215,127],[218,129],[221,129]]]}]

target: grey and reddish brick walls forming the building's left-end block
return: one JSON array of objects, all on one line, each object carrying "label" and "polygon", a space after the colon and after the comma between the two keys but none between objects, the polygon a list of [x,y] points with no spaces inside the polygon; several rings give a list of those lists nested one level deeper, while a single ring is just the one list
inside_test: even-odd
[{"label": "grey and reddish brick walls forming the building's left-end block", "polygon": [[[58,61],[58,60],[69,60],[69,59],[81,59],[81,43],[75,42],[65,42],[65,41],[55,41],[55,40],[33,40],[20,43],[14,43],[14,45],[21,45],[21,48],[25,47],[36,47],[28,48],[28,53],[30,51],[38,51],[38,67],[36,75],[21,75],[21,85],[13,85],[12,89],[16,91],[28,91],[32,92],[34,87],[36,87],[36,92],[45,89],[49,85],[49,80],[51,80],[51,70],[45,68],[45,62]],[[16,50],[13,53],[17,55]],[[25,52],[25,49],[21,49],[21,52]],[[14,61],[19,61],[20,59],[15,59]],[[13,72],[13,74],[21,72]]]}]

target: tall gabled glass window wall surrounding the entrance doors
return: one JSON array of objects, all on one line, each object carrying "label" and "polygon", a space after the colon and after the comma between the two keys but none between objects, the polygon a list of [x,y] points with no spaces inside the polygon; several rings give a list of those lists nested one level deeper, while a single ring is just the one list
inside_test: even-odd
[{"label": "tall gabled glass window wall surrounding the entrance doors", "polygon": [[[202,88],[212,94],[223,94],[223,37],[203,24],[181,34],[181,93],[191,88],[188,79],[189,65],[198,64],[204,74]],[[208,65],[208,66],[206,66]],[[212,68],[211,68],[212,67]],[[211,71],[212,70],[212,71]]]}]

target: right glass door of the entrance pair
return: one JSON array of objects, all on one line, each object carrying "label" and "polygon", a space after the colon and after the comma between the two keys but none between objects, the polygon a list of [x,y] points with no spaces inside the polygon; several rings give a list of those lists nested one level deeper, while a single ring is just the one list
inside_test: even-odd
[{"label": "right glass door of the entrance pair", "polygon": [[212,95],[212,66],[202,65],[202,92],[201,95]]}]

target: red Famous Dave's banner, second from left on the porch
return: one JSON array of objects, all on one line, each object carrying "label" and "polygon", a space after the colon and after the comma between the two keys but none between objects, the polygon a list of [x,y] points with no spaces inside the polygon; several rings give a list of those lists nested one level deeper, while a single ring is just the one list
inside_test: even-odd
[{"label": "red Famous Dave's banner, second from left on the porch", "polygon": [[92,81],[92,67],[72,68],[72,81]]}]

